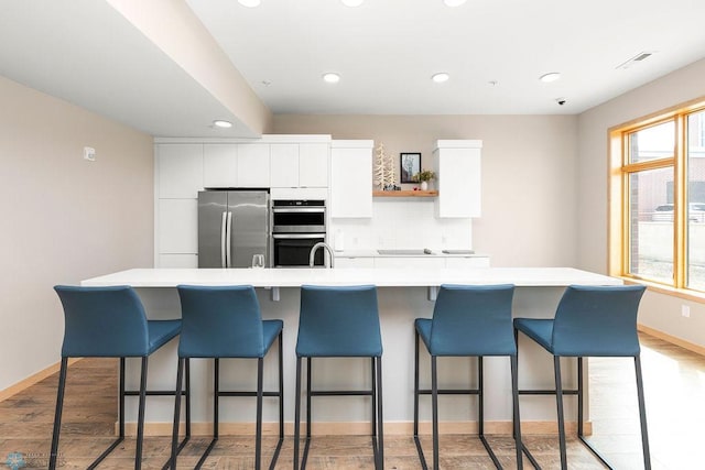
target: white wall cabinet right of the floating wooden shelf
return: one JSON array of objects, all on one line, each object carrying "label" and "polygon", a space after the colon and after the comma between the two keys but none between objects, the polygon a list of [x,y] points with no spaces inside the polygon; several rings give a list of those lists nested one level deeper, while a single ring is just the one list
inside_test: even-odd
[{"label": "white wall cabinet right of the floating wooden shelf", "polygon": [[433,151],[438,197],[436,217],[480,216],[482,141],[440,140]]}]

